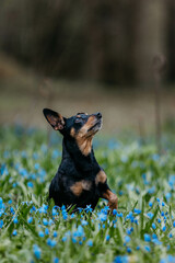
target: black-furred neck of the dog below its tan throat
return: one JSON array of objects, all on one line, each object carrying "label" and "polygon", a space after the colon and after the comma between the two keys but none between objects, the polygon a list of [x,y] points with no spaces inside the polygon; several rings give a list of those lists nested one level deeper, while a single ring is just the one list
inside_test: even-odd
[{"label": "black-furred neck of the dog below its tan throat", "polygon": [[92,170],[98,170],[100,168],[94,156],[93,147],[91,152],[88,156],[84,156],[74,139],[68,140],[67,138],[63,138],[62,162],[68,159],[72,165],[83,173],[89,173]]}]

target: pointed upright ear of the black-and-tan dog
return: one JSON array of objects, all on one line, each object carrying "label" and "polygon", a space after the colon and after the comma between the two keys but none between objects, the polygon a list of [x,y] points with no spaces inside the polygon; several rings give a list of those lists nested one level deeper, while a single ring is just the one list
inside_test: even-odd
[{"label": "pointed upright ear of the black-and-tan dog", "polygon": [[65,127],[65,119],[61,114],[54,112],[49,108],[44,108],[43,113],[47,119],[47,122],[51,125],[51,127],[56,130],[61,130]]}]

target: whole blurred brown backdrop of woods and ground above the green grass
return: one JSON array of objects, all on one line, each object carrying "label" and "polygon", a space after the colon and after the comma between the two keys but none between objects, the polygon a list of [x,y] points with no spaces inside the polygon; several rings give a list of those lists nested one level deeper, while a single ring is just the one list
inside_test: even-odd
[{"label": "whole blurred brown backdrop of woods and ground above the green grass", "polygon": [[1,0],[0,125],[46,127],[51,107],[100,111],[108,134],[160,112],[175,130],[174,69],[174,0]]}]

